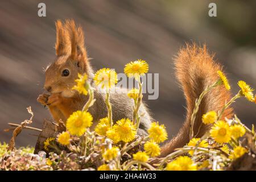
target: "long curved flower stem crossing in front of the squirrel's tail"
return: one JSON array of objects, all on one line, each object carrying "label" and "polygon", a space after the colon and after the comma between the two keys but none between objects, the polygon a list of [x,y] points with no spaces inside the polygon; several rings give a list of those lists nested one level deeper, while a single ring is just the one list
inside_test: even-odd
[{"label": "long curved flower stem crossing in front of the squirrel's tail", "polygon": [[205,90],[200,94],[199,98],[196,100],[196,104],[195,104],[195,108],[193,110],[193,113],[191,115],[191,125],[189,128],[189,139],[192,139],[194,136],[194,131],[193,131],[193,127],[194,127],[194,123],[195,123],[195,119],[196,119],[196,113],[199,110],[199,105],[201,103],[201,101],[203,100],[204,96],[210,92],[210,90],[212,90],[215,86],[220,85],[221,81],[218,80],[216,82],[214,82],[213,85],[207,86],[207,88],[205,88]]}]

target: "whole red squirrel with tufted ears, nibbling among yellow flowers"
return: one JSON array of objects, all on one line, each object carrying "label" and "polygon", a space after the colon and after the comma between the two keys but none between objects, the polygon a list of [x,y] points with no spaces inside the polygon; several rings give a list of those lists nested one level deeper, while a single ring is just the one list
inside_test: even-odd
[{"label": "whole red squirrel with tufted ears, nibbling among yellow flowers", "polygon": [[[61,23],[56,22],[56,59],[46,69],[46,81],[44,89],[49,94],[43,93],[38,97],[38,102],[46,105],[56,122],[60,119],[65,123],[73,111],[81,110],[82,106],[88,100],[88,96],[79,94],[72,87],[76,85],[78,73],[86,73],[90,84],[94,88],[94,97],[96,102],[89,108],[93,116],[93,122],[108,115],[105,104],[105,94],[97,90],[93,83],[94,72],[90,65],[89,57],[84,46],[84,32],[81,27],[77,27],[73,20],[66,20]],[[217,71],[221,66],[213,61],[213,56],[207,51],[207,48],[197,46],[196,44],[181,48],[176,59],[176,76],[184,90],[184,96],[187,101],[187,117],[183,126],[176,137],[162,147],[160,156],[166,156],[177,147],[183,147],[189,142],[189,127],[196,98],[198,98],[206,86],[212,84],[218,79]],[[117,88],[121,89],[121,88]],[[225,101],[229,100],[230,92],[224,86],[217,86],[216,89],[208,93],[200,104],[196,115],[194,130],[198,132],[196,137],[202,137],[209,128],[201,122],[201,117],[207,111],[218,111],[224,106]],[[122,118],[133,118],[134,102],[127,97],[126,92],[115,92],[111,94],[110,103],[113,110],[113,121]],[[138,135],[147,135],[147,129],[153,119],[147,107],[142,103],[139,113],[143,113]],[[232,109],[228,109],[222,115],[222,118],[231,117]],[[200,125],[202,125],[200,127]],[[200,129],[200,131],[198,131]]]}]

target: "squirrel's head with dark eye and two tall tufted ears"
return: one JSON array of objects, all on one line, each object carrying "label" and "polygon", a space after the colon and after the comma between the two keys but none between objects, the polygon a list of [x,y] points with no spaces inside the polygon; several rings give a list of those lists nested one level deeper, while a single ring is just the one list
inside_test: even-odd
[{"label": "squirrel's head with dark eye and two tall tufted ears", "polygon": [[61,93],[64,97],[72,97],[75,90],[78,73],[86,73],[92,78],[92,68],[89,64],[84,46],[84,33],[81,27],[76,27],[73,20],[62,24],[56,22],[56,60],[46,69],[44,89],[50,93]]}]

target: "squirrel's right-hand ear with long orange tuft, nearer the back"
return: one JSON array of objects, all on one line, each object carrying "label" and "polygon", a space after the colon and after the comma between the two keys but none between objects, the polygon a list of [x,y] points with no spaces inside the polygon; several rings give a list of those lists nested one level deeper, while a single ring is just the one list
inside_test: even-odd
[{"label": "squirrel's right-hand ear with long orange tuft, nearer the back", "polygon": [[79,26],[76,27],[74,20],[66,20],[65,28],[68,31],[69,39],[71,42],[71,57],[73,60],[87,58],[86,50],[84,47],[84,32]]}]

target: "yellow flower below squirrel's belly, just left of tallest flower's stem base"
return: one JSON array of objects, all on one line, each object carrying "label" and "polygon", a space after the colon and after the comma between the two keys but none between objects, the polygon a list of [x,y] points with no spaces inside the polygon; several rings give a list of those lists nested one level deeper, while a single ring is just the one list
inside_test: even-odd
[{"label": "yellow flower below squirrel's belly, just left of tallest flower's stem base", "polygon": [[136,126],[130,121],[130,119],[120,119],[113,126],[115,134],[118,135],[119,139],[123,142],[130,142],[135,138]]}]

